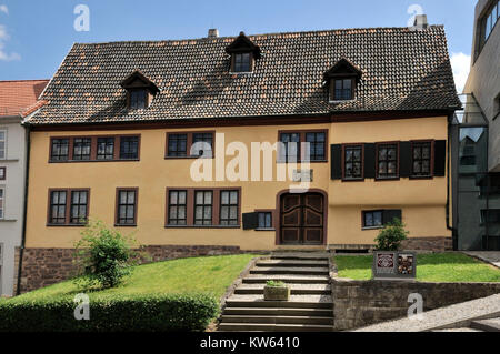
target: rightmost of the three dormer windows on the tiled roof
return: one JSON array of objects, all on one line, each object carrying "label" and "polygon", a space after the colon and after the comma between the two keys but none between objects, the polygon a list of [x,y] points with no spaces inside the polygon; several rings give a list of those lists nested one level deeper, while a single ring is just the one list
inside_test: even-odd
[{"label": "rightmost of the three dormer windows on the tiled roof", "polygon": [[330,102],[350,101],[356,99],[356,88],[361,79],[361,70],[347,59],[340,59],[324,73],[329,88]]}]

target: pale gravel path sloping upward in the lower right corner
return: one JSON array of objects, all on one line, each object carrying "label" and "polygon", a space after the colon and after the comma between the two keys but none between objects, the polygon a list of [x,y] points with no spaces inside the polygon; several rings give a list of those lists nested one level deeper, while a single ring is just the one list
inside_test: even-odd
[{"label": "pale gravel path sloping upward in the lower right corner", "polygon": [[500,294],[424,312],[422,320],[402,318],[379,323],[354,332],[423,332],[467,327],[471,320],[500,316]]}]

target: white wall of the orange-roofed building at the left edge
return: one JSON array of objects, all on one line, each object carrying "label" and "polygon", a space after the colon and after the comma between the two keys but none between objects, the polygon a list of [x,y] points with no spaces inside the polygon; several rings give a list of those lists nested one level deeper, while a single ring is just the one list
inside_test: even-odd
[{"label": "white wall of the orange-roofed building at the left edge", "polygon": [[0,166],[7,168],[7,179],[0,181],[6,188],[4,218],[0,220],[0,244],[3,247],[1,266],[1,295],[13,295],[14,249],[21,244],[22,211],[24,201],[26,132],[20,118],[1,118],[0,130],[7,130],[7,159]]}]

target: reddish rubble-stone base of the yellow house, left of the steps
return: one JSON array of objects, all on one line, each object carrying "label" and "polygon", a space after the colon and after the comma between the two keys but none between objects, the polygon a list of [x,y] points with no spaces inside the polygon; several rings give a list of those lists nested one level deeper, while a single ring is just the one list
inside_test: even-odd
[{"label": "reddish rubble-stone base of the yellow house, left of the steps", "polygon": [[[149,245],[141,263],[203,255],[243,253],[239,246]],[[74,274],[74,249],[26,249],[22,256],[21,292],[59,283]]]}]

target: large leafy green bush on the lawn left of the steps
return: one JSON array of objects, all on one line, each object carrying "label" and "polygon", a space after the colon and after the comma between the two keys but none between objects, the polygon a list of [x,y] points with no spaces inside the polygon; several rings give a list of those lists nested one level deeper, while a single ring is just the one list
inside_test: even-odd
[{"label": "large leafy green bush on the lawn left of the steps", "polygon": [[102,222],[89,222],[82,239],[74,244],[78,267],[77,282],[102,287],[114,287],[129,275],[137,252],[132,251],[133,239],[108,229]]}]

